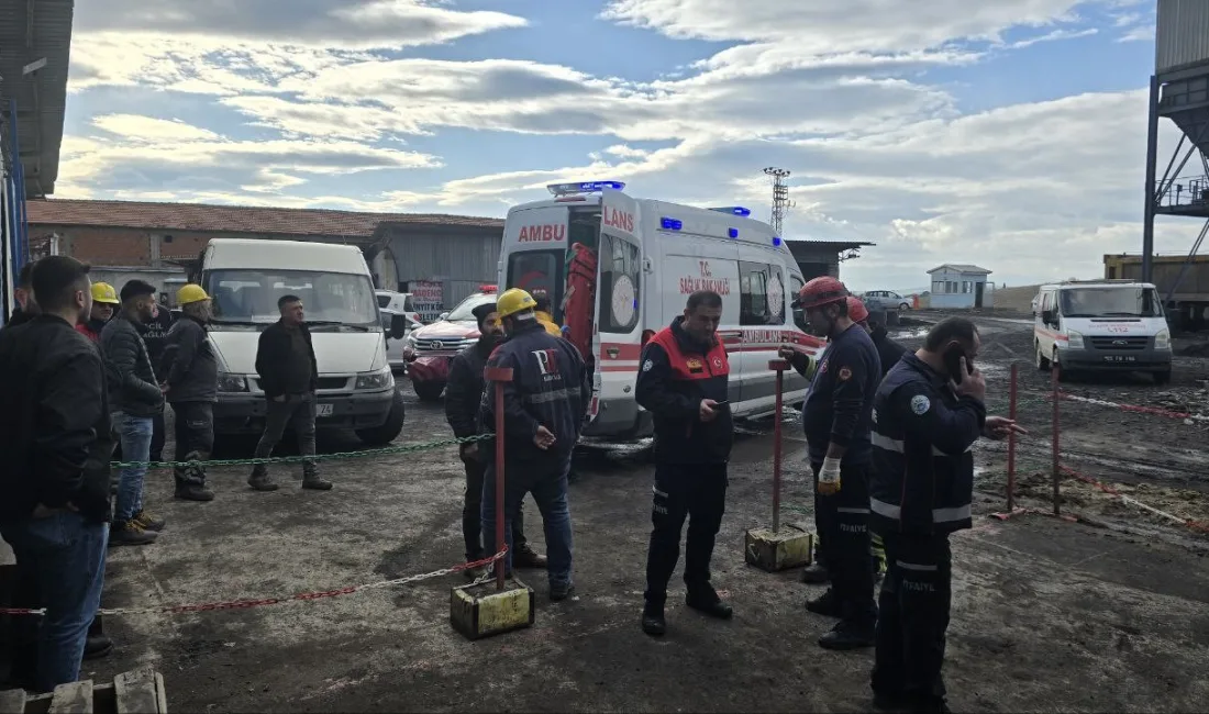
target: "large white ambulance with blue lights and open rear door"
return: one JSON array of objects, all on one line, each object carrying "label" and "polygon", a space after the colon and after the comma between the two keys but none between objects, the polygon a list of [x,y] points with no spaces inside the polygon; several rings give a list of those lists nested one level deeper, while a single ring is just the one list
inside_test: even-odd
[{"label": "large white ambulance with blue lights and open rear door", "polygon": [[[775,411],[769,361],[782,344],[811,359],[825,347],[791,307],[804,280],[788,246],[746,208],[632,198],[619,181],[548,188],[553,198],[508,211],[499,285],[546,294],[565,337],[584,354],[592,371],[585,437],[652,434],[650,414],[635,401],[642,348],[698,290],[722,296],[718,337],[730,359],[735,417]],[[787,371],[785,404],[804,400],[806,387]]]}]

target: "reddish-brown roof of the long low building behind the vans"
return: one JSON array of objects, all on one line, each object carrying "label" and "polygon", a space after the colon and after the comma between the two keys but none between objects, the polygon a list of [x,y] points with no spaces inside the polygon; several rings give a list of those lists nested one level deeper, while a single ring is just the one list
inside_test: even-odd
[{"label": "reddish-brown roof of the long low building behind the vans", "polygon": [[374,236],[378,224],[436,225],[503,230],[502,219],[444,214],[360,213],[300,208],[256,208],[202,203],[41,199],[29,202],[30,225],[92,226],[149,231],[268,233],[283,236]]}]

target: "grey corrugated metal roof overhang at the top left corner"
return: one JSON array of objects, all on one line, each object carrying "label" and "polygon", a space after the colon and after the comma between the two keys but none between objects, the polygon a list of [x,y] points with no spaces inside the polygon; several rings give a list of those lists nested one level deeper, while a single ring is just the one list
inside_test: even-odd
[{"label": "grey corrugated metal roof overhang at the top left corner", "polygon": [[[54,192],[66,108],[74,0],[0,0],[0,98],[17,103],[25,195]],[[23,75],[28,64],[46,59]],[[5,137],[7,143],[10,137]]]}]

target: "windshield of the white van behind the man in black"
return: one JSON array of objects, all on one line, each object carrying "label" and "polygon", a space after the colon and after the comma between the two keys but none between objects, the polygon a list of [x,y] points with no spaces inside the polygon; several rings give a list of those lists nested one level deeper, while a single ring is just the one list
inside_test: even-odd
[{"label": "windshield of the white van behind the man in black", "polygon": [[308,324],[382,326],[368,275],[237,268],[208,271],[204,283],[219,325],[276,323],[280,318],[277,300],[296,295],[302,298]]}]

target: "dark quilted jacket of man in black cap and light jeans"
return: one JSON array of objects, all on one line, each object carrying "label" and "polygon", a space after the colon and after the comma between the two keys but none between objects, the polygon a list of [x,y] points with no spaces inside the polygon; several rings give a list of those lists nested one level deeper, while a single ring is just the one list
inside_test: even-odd
[{"label": "dark quilted jacket of man in black cap and light jeans", "polygon": [[154,417],[163,412],[163,393],[143,342],[143,325],[117,314],[100,331],[109,399],[115,412]]}]

